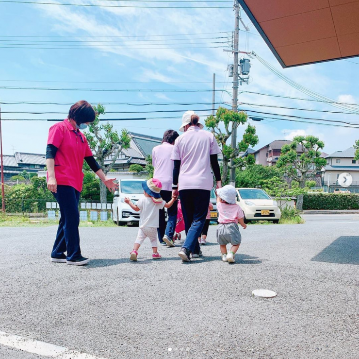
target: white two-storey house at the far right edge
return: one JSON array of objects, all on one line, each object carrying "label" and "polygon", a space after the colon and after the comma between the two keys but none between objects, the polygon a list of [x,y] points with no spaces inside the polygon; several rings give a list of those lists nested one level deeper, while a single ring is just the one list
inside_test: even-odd
[{"label": "white two-storey house at the far right edge", "polygon": [[337,151],[327,155],[326,166],[322,168],[322,182],[325,186],[338,185],[338,178],[342,173],[349,173],[353,178],[353,185],[359,185],[359,161],[354,159],[355,148],[349,147],[345,151]]}]

